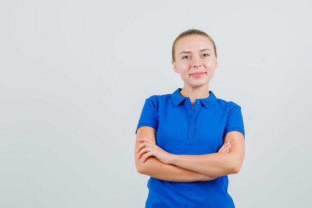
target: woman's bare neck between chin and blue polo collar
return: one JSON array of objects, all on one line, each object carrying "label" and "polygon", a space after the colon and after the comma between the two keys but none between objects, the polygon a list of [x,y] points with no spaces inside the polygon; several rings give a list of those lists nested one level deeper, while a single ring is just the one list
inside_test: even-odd
[{"label": "woman's bare neck between chin and blue polo collar", "polygon": [[210,95],[208,85],[194,88],[186,84],[184,84],[180,94],[183,97],[189,97],[192,104],[194,104],[196,99],[207,98]]}]

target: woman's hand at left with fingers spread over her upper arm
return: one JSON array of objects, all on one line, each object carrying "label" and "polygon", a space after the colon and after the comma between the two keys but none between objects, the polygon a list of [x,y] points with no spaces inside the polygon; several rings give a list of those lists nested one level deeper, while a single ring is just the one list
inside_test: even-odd
[{"label": "woman's hand at left with fingers spread over her upper arm", "polygon": [[163,164],[170,164],[170,159],[173,154],[168,153],[158,147],[151,139],[143,138],[138,139],[142,144],[139,145],[137,149],[138,159],[141,158],[141,161],[144,163],[149,157],[156,157]]}]

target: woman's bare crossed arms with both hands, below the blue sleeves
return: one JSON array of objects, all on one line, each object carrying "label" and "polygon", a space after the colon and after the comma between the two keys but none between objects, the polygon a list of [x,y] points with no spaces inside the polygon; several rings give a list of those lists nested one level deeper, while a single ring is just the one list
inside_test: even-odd
[{"label": "woman's bare crossed arms with both hands, below the blue sleeves", "polygon": [[217,153],[173,155],[156,145],[154,128],[143,126],[137,131],[136,168],[141,174],[171,182],[211,181],[238,173],[244,160],[244,136],[232,131],[224,136],[224,142]]}]

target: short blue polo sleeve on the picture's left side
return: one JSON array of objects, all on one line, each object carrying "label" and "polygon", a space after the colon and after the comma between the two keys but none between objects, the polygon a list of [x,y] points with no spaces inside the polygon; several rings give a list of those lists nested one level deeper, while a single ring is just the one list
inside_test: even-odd
[{"label": "short blue polo sleeve on the picture's left side", "polygon": [[149,126],[154,128],[156,131],[158,129],[158,118],[156,113],[156,99],[150,97],[146,99],[143,106],[143,110],[139,119],[139,124],[137,126],[137,131],[142,126]]}]

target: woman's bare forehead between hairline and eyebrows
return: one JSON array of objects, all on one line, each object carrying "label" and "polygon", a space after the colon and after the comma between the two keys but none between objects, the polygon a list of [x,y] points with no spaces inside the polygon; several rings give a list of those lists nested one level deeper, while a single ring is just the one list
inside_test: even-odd
[{"label": "woman's bare forehead between hairline and eyebrows", "polygon": [[175,45],[176,52],[183,50],[197,51],[203,48],[214,50],[212,41],[203,35],[187,35],[179,39]]}]

